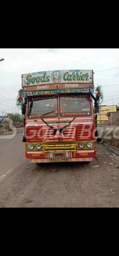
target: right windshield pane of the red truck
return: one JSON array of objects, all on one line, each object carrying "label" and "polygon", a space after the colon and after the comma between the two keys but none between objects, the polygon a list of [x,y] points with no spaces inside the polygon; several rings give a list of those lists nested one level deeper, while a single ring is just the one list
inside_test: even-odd
[{"label": "right windshield pane of the red truck", "polygon": [[61,117],[91,115],[90,96],[88,94],[63,95],[59,99]]}]

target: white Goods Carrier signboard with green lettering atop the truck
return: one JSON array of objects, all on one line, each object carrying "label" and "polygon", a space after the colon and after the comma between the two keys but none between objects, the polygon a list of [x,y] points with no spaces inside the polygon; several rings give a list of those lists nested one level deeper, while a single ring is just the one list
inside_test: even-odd
[{"label": "white Goods Carrier signboard with green lettering atop the truck", "polygon": [[53,84],[58,83],[71,83],[71,82],[84,82],[93,83],[93,71],[92,70],[67,70],[67,71],[42,71],[35,73],[28,73],[22,75],[22,86],[32,86],[41,84]]}]

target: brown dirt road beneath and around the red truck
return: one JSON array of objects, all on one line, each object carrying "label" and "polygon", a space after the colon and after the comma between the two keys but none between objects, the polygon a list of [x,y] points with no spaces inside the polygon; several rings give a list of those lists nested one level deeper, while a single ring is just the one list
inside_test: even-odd
[{"label": "brown dirt road beneath and around the red truck", "polygon": [[37,166],[24,158],[22,137],[0,137],[0,207],[119,207],[119,158],[97,146],[90,164]]}]

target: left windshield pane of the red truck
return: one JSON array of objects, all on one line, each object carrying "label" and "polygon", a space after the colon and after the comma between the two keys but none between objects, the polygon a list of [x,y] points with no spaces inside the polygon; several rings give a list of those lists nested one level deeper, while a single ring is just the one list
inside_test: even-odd
[{"label": "left windshield pane of the red truck", "polygon": [[[52,112],[52,113],[49,113]],[[46,114],[46,117],[57,117],[57,96],[41,96],[35,98],[29,98],[28,104],[28,117],[29,118],[40,118],[40,115]],[[41,117],[42,118],[42,117]]]}]

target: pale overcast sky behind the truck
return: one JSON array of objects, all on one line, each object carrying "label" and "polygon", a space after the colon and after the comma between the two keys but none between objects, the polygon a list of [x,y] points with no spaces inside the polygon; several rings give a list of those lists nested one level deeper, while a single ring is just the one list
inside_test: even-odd
[{"label": "pale overcast sky behind the truck", "polygon": [[118,48],[6,48],[0,49],[2,58],[5,60],[0,62],[0,115],[22,113],[16,106],[22,74],[48,70],[93,69],[94,85],[103,89],[101,105],[119,105]]}]

